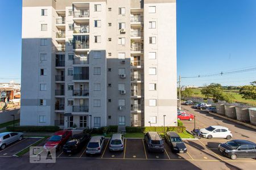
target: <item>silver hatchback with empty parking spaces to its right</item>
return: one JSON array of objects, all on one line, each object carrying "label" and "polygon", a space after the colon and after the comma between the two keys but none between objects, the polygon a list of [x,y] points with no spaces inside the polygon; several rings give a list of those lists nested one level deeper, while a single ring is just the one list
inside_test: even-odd
[{"label": "silver hatchback with empty parking spaces to its right", "polygon": [[110,143],[110,151],[123,151],[123,135],[122,134],[113,134]]}]

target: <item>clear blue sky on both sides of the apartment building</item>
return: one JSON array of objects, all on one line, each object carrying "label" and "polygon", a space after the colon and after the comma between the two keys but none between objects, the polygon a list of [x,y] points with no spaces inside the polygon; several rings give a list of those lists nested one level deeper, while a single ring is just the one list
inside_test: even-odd
[{"label": "clear blue sky on both sides of the apartment building", "polygon": [[[21,0],[0,2],[0,82],[20,82]],[[177,0],[177,74],[195,76],[256,67],[256,0]],[[182,85],[211,82],[243,85],[256,71],[182,79]]]}]

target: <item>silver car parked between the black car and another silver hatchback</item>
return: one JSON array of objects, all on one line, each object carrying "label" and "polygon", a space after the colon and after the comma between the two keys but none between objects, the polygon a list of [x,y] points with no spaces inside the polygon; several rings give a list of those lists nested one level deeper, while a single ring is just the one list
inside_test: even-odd
[{"label": "silver car parked between the black car and another silver hatchback", "polygon": [[90,139],[87,147],[86,147],[86,155],[89,154],[101,154],[105,145],[105,137],[104,136],[94,136]]}]

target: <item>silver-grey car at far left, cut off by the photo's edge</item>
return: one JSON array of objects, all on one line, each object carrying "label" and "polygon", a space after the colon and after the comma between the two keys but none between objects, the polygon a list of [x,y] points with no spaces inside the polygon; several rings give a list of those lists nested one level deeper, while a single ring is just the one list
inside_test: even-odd
[{"label": "silver-grey car at far left, cut off by the photo's edge", "polygon": [[0,133],[0,150],[5,149],[7,145],[10,145],[13,142],[21,141],[22,139],[23,139],[23,133],[17,133],[17,132]]}]

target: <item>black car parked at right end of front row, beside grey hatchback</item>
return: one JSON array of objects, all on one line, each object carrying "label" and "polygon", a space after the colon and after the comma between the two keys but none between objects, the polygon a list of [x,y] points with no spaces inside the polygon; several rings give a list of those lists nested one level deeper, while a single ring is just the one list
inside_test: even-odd
[{"label": "black car parked at right end of front row, beside grey hatchback", "polygon": [[187,152],[187,147],[180,138],[180,136],[174,131],[167,131],[164,135],[166,143],[171,147],[172,152],[185,153]]}]

